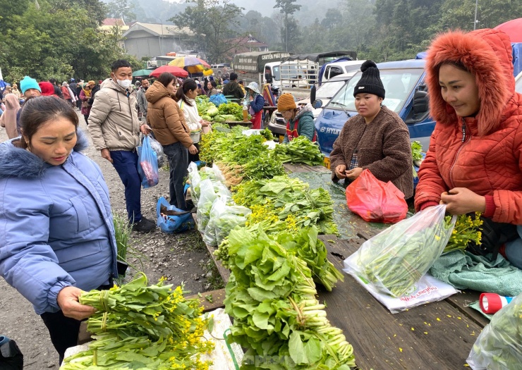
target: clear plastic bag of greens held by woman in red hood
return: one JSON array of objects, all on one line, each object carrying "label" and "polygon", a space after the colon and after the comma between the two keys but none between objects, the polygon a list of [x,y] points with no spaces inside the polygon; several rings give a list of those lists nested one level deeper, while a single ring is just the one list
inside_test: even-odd
[{"label": "clear plastic bag of greens held by woman in red hood", "polygon": [[431,206],[375,235],[356,252],[358,276],[392,297],[408,295],[447,245],[456,216]]}]

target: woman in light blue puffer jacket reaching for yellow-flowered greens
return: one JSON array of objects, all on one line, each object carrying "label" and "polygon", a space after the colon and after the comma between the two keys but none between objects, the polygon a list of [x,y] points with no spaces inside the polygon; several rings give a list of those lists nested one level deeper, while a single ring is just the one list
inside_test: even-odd
[{"label": "woman in light blue puffer jacket reaching for yellow-flowered greens", "polygon": [[102,171],[63,99],[29,99],[23,135],[0,144],[0,274],[34,306],[59,352],[95,312],[83,290],[109,288],[116,240]]}]

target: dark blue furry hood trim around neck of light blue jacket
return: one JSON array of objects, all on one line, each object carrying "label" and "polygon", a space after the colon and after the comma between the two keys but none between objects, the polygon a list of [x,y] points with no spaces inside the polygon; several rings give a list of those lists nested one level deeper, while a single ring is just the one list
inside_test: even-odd
[{"label": "dark blue furry hood trim around neck of light blue jacket", "polygon": [[[73,152],[83,152],[89,147],[87,136],[79,129],[76,135],[78,140]],[[16,147],[14,143],[18,140],[20,140],[20,137],[0,144],[0,178],[14,177],[27,180],[41,178],[49,164],[46,164],[39,156],[28,150]]]}]

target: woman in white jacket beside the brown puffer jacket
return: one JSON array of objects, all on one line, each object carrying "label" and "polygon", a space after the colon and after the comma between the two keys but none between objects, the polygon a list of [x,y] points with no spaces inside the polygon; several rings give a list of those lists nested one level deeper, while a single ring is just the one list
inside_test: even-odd
[{"label": "woman in white jacket beside the brown puffer jacket", "polygon": [[178,105],[181,111],[183,111],[188,128],[190,128],[190,137],[192,138],[195,147],[198,148],[198,153],[188,154],[188,163],[200,160],[199,142],[201,139],[202,128],[207,128],[210,125],[210,122],[204,121],[198,113],[198,107],[195,103],[195,97],[197,96],[198,83],[191,78],[183,81],[183,85],[181,85],[176,92]]}]

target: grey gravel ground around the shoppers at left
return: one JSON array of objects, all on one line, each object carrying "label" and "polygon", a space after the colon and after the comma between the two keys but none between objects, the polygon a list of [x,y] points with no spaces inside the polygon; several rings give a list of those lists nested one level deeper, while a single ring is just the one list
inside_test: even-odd
[{"label": "grey gravel ground around the shoppers at left", "polygon": [[[79,111],[78,116],[80,129],[87,132]],[[6,131],[0,128],[0,142],[5,140]],[[125,215],[123,184],[113,166],[102,159],[92,146],[85,154],[102,168],[114,213]],[[141,195],[142,213],[155,220],[157,199],[169,198],[168,171],[159,171],[159,185],[142,190]],[[131,262],[144,271],[150,281],[155,282],[165,276],[169,283],[184,283],[185,288],[194,293],[221,288],[217,270],[198,231],[169,235],[157,229],[150,234],[132,233],[131,238],[133,247],[141,254],[139,259],[132,259]],[[135,270],[131,269],[127,276],[132,277],[133,273]],[[58,369],[58,354],[51,344],[47,328],[33,311],[32,305],[4,278],[0,278],[0,307],[0,335],[16,340],[24,354],[24,369]]]}]

